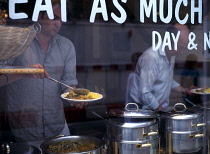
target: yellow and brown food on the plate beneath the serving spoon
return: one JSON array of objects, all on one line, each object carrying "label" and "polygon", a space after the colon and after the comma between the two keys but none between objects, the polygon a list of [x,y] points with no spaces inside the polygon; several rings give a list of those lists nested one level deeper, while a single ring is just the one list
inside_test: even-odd
[{"label": "yellow and brown food on the plate beneath the serving spoon", "polygon": [[97,93],[89,92],[87,95],[78,95],[71,90],[69,94],[66,95],[65,98],[76,99],[76,100],[91,100],[91,99],[97,99],[99,97],[100,95]]}]

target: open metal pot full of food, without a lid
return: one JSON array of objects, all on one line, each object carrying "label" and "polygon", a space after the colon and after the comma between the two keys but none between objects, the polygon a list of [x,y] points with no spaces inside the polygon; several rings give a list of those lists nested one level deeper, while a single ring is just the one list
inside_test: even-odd
[{"label": "open metal pot full of food, without a lid", "polygon": [[93,136],[62,136],[41,146],[44,154],[102,154],[104,141]]}]

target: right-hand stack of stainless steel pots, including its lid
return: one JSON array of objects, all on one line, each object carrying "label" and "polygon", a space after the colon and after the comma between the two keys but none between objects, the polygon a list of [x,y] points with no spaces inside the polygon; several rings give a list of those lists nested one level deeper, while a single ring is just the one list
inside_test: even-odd
[{"label": "right-hand stack of stainless steel pots, including its lid", "polygon": [[164,153],[202,153],[206,135],[202,111],[177,103],[172,111],[160,113],[160,118]]}]

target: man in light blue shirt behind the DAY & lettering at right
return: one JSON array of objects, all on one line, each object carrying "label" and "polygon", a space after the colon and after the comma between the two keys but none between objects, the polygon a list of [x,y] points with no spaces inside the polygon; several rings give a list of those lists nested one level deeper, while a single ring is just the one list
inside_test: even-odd
[{"label": "man in light blue shirt behind the DAY & lettering at right", "polygon": [[149,48],[141,55],[136,66],[131,97],[143,108],[160,110],[168,106],[171,89],[191,94],[190,89],[194,87],[185,89],[173,80],[175,56],[186,49],[189,30],[185,25],[174,24],[167,31],[171,33],[180,31],[178,50],[165,48],[165,51],[162,51],[159,48],[154,51]]}]

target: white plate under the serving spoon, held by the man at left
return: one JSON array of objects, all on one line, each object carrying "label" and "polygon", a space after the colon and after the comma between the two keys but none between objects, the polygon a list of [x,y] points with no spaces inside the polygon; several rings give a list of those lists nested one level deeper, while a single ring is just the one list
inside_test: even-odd
[{"label": "white plate under the serving spoon, held by the man at left", "polygon": [[103,95],[99,94],[99,93],[95,93],[95,92],[89,92],[88,95],[95,95],[97,98],[95,99],[85,99],[85,100],[78,100],[78,99],[69,99],[69,98],[66,98],[66,96],[69,94],[69,92],[67,93],[63,93],[61,95],[61,98],[65,99],[65,100],[68,100],[68,101],[72,101],[72,102],[93,102],[93,101],[97,101],[99,99],[102,99],[103,98]]}]

